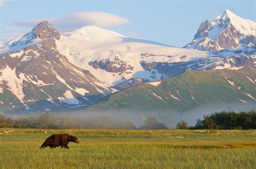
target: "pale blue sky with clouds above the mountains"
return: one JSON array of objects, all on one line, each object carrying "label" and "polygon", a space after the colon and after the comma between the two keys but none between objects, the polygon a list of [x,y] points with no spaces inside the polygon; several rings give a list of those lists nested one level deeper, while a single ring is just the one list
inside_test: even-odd
[{"label": "pale blue sky with clouds above the mountains", "polygon": [[226,9],[255,22],[254,0],[0,0],[0,41],[21,36],[48,20],[60,32],[95,25],[127,37],[183,47],[200,23]]}]

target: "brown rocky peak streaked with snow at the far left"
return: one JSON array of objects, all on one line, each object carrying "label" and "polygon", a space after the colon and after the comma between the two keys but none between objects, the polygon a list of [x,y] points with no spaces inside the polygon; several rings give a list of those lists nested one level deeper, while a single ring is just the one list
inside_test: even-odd
[{"label": "brown rocky peak streaked with snow at the far left", "polygon": [[0,58],[2,109],[60,111],[91,104],[110,93],[89,71],[58,52],[55,41],[59,39],[57,30],[45,21],[3,48],[15,51]]}]

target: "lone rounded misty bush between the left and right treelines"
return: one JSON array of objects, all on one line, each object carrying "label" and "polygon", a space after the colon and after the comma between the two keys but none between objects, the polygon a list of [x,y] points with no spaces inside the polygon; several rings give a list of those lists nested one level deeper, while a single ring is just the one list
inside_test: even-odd
[{"label": "lone rounded misty bush between the left and right treelines", "polygon": [[147,116],[145,119],[145,124],[140,126],[140,129],[147,129],[147,130],[161,130],[161,129],[168,129],[164,125],[157,120],[157,118],[153,115]]}]

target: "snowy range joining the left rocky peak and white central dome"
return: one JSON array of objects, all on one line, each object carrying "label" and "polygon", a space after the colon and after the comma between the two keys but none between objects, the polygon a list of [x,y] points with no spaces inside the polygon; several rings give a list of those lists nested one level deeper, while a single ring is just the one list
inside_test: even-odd
[{"label": "snowy range joining the left rocky peak and white central dome", "polygon": [[60,111],[84,107],[130,86],[188,69],[255,65],[255,48],[206,52],[85,26],[60,35],[47,22],[0,44],[0,110]]}]

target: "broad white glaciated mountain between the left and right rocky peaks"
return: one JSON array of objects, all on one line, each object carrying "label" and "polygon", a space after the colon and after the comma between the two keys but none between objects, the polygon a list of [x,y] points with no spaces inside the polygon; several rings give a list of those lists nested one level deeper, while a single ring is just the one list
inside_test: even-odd
[{"label": "broad white glaciated mountain between the left and right rocky peaks", "polygon": [[[86,27],[83,27],[82,30],[87,30]],[[89,28],[91,29],[91,27]],[[82,40],[86,38],[87,34],[81,33],[78,38],[62,36],[60,40],[56,41],[56,44],[59,52],[65,55],[72,64],[90,71],[97,79],[105,82],[104,87],[107,88],[116,88],[114,86],[119,83],[130,83],[134,78],[142,79],[142,81],[157,81],[183,73],[186,69],[207,70],[240,67],[249,62],[253,64],[253,60],[255,60],[251,56],[255,54],[253,47],[247,47],[247,50],[243,49],[242,52],[237,48],[210,53],[155,45],[144,40],[116,41],[117,37],[122,37],[120,34],[96,29],[95,26],[93,29],[100,30],[102,34],[105,34],[100,37],[113,37],[113,39],[102,41],[100,37],[96,38],[98,31],[95,31],[95,35],[91,32],[89,36],[89,38],[94,37],[93,41]],[[73,32],[82,32],[80,30]],[[248,55],[249,53],[250,55]],[[241,56],[243,59],[238,59]],[[237,60],[242,60],[242,62],[238,63]]]}]

